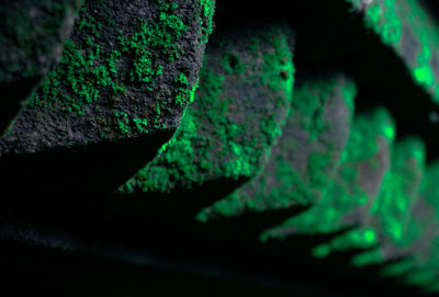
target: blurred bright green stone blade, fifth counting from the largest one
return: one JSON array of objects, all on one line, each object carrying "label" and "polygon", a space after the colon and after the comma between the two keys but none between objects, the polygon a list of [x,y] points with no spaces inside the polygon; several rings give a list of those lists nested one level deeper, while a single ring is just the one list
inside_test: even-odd
[{"label": "blurred bright green stone blade, fifth counting from the largest one", "polygon": [[[412,210],[419,197],[425,170],[425,148],[417,138],[397,142],[392,151],[391,170],[361,225],[317,249],[369,248],[352,259],[358,266],[382,263],[406,253]],[[372,249],[373,248],[373,249]]]}]

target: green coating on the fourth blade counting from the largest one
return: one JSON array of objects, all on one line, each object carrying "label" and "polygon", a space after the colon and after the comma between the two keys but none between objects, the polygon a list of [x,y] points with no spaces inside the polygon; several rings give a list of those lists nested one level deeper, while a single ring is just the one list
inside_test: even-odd
[{"label": "green coating on the fourth blade counting from the largest one", "polygon": [[[378,191],[368,193],[368,189],[362,185],[361,170],[373,167],[380,158],[379,142],[380,139],[386,139],[383,135],[386,127],[393,128],[394,125],[384,110],[380,108],[369,116],[359,116],[351,128],[335,179],[322,199],[311,209],[268,230],[262,239],[284,238],[288,233],[330,233],[349,227],[344,220],[345,216],[365,207],[378,194]],[[387,141],[393,141],[393,138]],[[389,142],[383,149],[389,149]],[[319,256],[329,254],[328,249],[327,245],[319,247],[316,253]]]}]

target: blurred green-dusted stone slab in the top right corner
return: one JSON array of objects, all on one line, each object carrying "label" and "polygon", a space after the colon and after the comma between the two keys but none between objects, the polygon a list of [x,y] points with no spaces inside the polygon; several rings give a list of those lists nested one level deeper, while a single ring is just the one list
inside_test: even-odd
[{"label": "blurred green-dusted stone slab in the top right corner", "polygon": [[[439,27],[418,0],[374,0],[363,4],[347,0],[357,9],[364,8],[365,24],[379,34],[403,58],[412,77],[439,102]],[[407,42],[410,45],[407,44]],[[413,42],[417,47],[413,49]]]}]

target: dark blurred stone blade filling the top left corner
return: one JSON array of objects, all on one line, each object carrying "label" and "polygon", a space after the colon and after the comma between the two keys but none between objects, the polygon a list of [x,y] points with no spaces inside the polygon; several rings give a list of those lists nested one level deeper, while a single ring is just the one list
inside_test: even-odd
[{"label": "dark blurred stone blade filling the top left corner", "polygon": [[32,89],[59,61],[82,0],[0,2],[0,135]]}]

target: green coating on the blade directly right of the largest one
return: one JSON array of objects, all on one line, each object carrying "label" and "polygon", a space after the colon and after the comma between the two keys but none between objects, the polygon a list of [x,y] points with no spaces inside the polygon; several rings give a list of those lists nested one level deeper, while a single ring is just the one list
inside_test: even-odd
[{"label": "green coating on the blade directly right of the largest one", "polygon": [[[294,73],[286,35],[279,30],[259,34],[260,36],[256,34],[261,39],[258,41],[256,55],[263,53],[261,65],[249,67],[248,64],[255,64],[258,59],[248,55],[245,38],[240,42],[240,49],[235,47],[234,41],[225,41],[224,47],[221,48],[226,50],[214,52],[222,53],[221,55],[207,52],[204,67],[200,71],[200,87],[194,104],[184,112],[177,133],[160,149],[155,160],[120,189],[121,192],[166,193],[176,187],[191,189],[214,179],[213,176],[238,179],[256,175],[260,170],[261,160],[268,158],[267,150],[280,135],[281,124],[280,121],[267,118],[266,115],[261,119],[257,118],[259,115],[252,114],[248,115],[248,118],[236,118],[236,115],[244,113],[244,103],[251,100],[251,96],[233,98],[230,94],[234,92],[228,88],[235,88],[236,81],[245,81],[248,88],[264,92],[268,99],[277,103],[283,102],[282,104],[288,106],[292,98],[290,84],[293,83]],[[271,50],[267,49],[267,46]],[[244,70],[230,72],[224,69],[224,57],[229,53],[234,53],[241,60]],[[269,76],[262,71],[264,69],[270,69]],[[270,79],[255,88],[255,81],[260,80],[260,76],[255,75],[258,71]],[[285,77],[281,75],[283,71]],[[178,80],[185,83],[184,77]],[[273,80],[277,81],[275,92],[270,85]],[[252,121],[260,125],[258,137],[249,134],[248,125]]]}]

